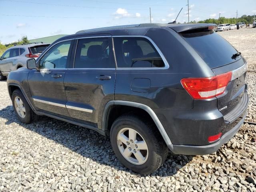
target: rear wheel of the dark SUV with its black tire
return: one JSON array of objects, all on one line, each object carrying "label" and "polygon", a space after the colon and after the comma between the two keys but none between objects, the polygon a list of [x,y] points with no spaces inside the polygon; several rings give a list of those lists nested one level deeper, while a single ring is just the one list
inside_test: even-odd
[{"label": "rear wheel of the dark SUV with its black tire", "polygon": [[[168,154],[168,148],[162,136],[152,124],[153,123],[143,122],[133,114],[125,114],[114,121],[110,131],[111,145],[120,162],[127,168],[140,174],[150,174],[156,171],[164,163]],[[136,140],[132,141],[130,138],[132,138],[133,134],[131,134],[131,137],[129,134],[134,131],[136,132]],[[118,138],[118,136],[121,135],[122,139],[123,135],[129,137],[126,137],[128,143],[126,140],[123,140],[126,142],[126,144],[124,144],[124,142]],[[147,150],[142,150],[142,148],[145,148],[145,145],[139,145],[139,143],[145,144],[143,141],[146,142]],[[141,148],[141,150],[139,148]],[[121,152],[122,150],[124,152]],[[130,154],[129,160],[123,155],[127,151]],[[137,156],[140,158],[136,158]],[[138,159],[141,159],[141,161]]]}]

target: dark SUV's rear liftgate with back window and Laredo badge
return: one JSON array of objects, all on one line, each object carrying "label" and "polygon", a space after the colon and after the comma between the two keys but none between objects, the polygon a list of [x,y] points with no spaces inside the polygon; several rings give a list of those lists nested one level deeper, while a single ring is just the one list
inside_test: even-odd
[{"label": "dark SUV's rear liftgate with back window and Laredo badge", "polygon": [[196,50],[216,75],[232,71],[225,92],[218,98],[218,109],[226,114],[236,106],[246,89],[246,61],[224,38],[212,30],[185,31],[180,35]]}]

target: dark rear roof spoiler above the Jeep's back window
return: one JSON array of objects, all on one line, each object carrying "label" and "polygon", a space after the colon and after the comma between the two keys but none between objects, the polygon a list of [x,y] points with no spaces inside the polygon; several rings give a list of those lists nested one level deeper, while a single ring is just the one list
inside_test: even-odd
[{"label": "dark rear roof spoiler above the Jeep's back window", "polygon": [[200,29],[215,29],[217,27],[216,24],[213,23],[197,23],[197,24],[177,24],[171,25],[169,28],[173,29],[177,33],[190,31],[190,30],[200,30]]}]

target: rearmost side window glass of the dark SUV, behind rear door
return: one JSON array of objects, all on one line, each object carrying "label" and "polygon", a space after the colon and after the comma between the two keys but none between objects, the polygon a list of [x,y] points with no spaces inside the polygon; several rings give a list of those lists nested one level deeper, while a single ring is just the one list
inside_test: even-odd
[{"label": "rearmost side window glass of the dark SUV, behind rear door", "polygon": [[164,67],[164,61],[152,43],[142,37],[115,37],[118,68]]}]

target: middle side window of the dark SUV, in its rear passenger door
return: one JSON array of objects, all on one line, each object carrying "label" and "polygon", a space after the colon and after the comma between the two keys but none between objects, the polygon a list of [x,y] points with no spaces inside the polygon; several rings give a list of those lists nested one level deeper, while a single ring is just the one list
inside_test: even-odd
[{"label": "middle side window of the dark SUV, in its rear passenger door", "polygon": [[109,38],[78,40],[74,68],[115,68]]}]

